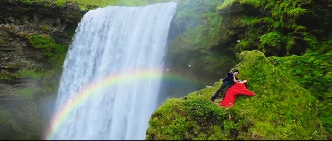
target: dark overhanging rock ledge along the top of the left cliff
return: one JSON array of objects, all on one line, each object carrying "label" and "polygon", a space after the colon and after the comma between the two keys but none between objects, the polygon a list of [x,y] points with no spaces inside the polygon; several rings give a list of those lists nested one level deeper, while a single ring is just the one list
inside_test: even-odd
[{"label": "dark overhanging rock ledge along the top of the left cliff", "polygon": [[[65,28],[69,23],[80,20],[80,9],[76,3],[66,3],[65,7],[55,4],[25,4],[20,1],[0,2],[2,23],[46,24],[54,28]],[[60,28],[61,29],[61,28]],[[63,29],[62,29],[63,30]]]}]

